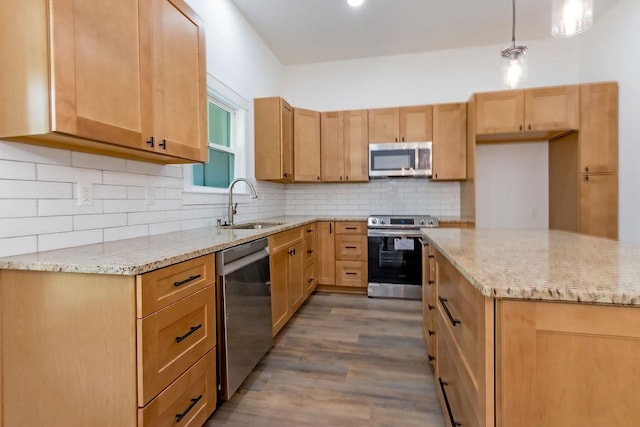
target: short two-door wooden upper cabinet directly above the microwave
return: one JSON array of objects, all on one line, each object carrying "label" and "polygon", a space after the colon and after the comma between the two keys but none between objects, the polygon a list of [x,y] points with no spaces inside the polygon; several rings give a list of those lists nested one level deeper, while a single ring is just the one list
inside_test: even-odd
[{"label": "short two-door wooden upper cabinet directly above the microwave", "polygon": [[431,141],[430,105],[369,110],[369,143]]}]

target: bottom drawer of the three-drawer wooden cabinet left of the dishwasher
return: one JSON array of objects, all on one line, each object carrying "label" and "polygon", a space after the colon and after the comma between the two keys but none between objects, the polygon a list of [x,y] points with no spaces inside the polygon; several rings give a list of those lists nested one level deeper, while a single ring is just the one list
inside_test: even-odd
[{"label": "bottom drawer of the three-drawer wooden cabinet left of the dishwasher", "polygon": [[213,413],[216,398],[216,352],[211,350],[147,406],[138,409],[138,427],[201,427]]}]

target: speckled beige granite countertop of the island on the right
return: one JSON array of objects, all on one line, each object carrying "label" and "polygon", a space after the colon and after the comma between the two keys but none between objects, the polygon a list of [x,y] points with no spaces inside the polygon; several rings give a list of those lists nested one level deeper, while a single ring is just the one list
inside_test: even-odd
[{"label": "speckled beige granite countertop of the island on the right", "polygon": [[640,247],[548,230],[422,229],[484,296],[640,306]]}]

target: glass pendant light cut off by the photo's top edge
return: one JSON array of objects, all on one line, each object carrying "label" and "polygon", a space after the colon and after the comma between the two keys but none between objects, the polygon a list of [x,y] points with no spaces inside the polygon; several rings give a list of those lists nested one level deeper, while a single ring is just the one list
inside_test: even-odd
[{"label": "glass pendant light cut off by the photo's top edge", "polygon": [[593,0],[553,0],[551,35],[571,37],[593,24]]}]

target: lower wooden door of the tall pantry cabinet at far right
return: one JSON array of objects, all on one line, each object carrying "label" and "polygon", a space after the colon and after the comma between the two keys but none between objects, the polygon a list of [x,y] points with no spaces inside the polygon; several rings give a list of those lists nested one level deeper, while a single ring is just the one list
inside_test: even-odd
[{"label": "lower wooden door of the tall pantry cabinet at far right", "polygon": [[618,175],[585,175],[580,188],[580,232],[618,238]]}]

